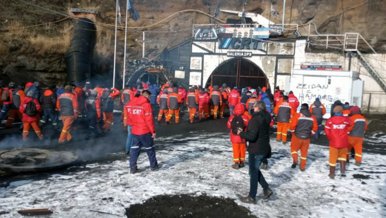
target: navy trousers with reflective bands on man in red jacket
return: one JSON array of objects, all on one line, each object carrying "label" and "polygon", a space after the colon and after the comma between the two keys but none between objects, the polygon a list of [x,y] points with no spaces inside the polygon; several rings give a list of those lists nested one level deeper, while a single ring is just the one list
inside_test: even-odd
[{"label": "navy trousers with reflective bands on man in red jacket", "polygon": [[149,158],[150,167],[156,167],[158,163],[157,159],[155,158],[154,141],[151,138],[151,133],[143,135],[132,134],[132,136],[133,145],[130,149],[130,170],[132,171],[135,169],[142,146],[145,147],[147,157]]}]

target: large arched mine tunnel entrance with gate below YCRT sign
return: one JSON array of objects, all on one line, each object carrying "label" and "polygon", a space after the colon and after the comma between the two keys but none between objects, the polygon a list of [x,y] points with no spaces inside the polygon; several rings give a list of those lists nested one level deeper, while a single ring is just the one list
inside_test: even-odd
[{"label": "large arched mine tunnel entrance with gate below YCRT sign", "polygon": [[253,62],[243,58],[233,58],[221,63],[209,77],[205,87],[226,83],[229,87],[268,87],[268,78]]}]

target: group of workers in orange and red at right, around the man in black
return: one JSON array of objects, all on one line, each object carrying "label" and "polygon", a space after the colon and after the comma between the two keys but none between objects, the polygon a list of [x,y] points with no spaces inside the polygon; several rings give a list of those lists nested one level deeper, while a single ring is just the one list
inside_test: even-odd
[{"label": "group of workers in orange and red at right, around the man in black", "polygon": [[[264,96],[265,88],[261,96]],[[237,95],[237,94],[236,94]],[[245,105],[241,101],[236,107],[233,107],[233,115],[228,120],[228,128],[231,129],[231,142],[233,147],[233,168],[244,166],[246,141],[239,137],[237,128],[246,131],[248,121],[253,116],[253,107],[261,101],[259,97],[253,94],[248,98]],[[252,102],[252,103],[251,103]],[[269,112],[269,105],[266,105],[266,111]],[[274,114],[277,119],[277,137],[276,141],[287,143],[287,133],[290,131],[290,154],[293,159],[292,168],[298,165],[298,151],[300,150],[300,170],[304,171],[307,160],[307,152],[310,143],[310,137],[314,135],[315,139],[320,136],[323,115],[326,113],[325,106],[316,98],[311,106],[302,104],[300,111],[298,99],[290,91],[289,96],[285,96],[283,91],[276,87],[274,94],[275,106]],[[247,106],[247,107],[245,107]],[[252,116],[251,116],[252,115]],[[271,117],[272,119],[272,117]],[[238,120],[236,122],[236,120]],[[271,126],[273,121],[271,122]],[[235,127],[236,126],[236,127]],[[344,176],[345,163],[349,161],[349,151],[353,148],[355,152],[355,165],[360,165],[362,161],[362,144],[365,132],[367,130],[367,120],[361,114],[357,106],[350,106],[349,103],[342,104],[336,101],[331,108],[331,118],[326,121],[325,133],[330,140],[330,174],[331,178],[335,176],[335,167],[337,160],[340,162],[340,172]],[[267,168],[267,160],[263,159],[261,168]]]}]

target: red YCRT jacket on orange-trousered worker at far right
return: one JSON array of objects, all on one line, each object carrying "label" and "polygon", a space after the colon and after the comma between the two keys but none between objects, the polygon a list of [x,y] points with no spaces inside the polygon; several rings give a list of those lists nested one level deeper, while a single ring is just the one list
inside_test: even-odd
[{"label": "red YCRT jacket on orange-trousered worker at far right", "polygon": [[350,118],[335,115],[330,117],[324,126],[324,132],[330,140],[330,146],[334,148],[347,148],[348,146],[348,127],[353,122]]}]

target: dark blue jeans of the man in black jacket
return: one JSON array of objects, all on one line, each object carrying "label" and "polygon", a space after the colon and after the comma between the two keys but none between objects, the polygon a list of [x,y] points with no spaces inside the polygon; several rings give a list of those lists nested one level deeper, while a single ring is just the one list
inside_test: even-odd
[{"label": "dark blue jeans of the man in black jacket", "polygon": [[249,197],[256,199],[257,185],[260,183],[263,191],[268,190],[268,183],[265,181],[263,174],[260,171],[260,164],[265,155],[248,155],[249,163]]}]

